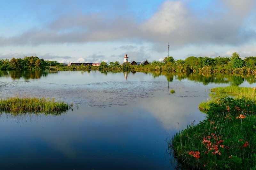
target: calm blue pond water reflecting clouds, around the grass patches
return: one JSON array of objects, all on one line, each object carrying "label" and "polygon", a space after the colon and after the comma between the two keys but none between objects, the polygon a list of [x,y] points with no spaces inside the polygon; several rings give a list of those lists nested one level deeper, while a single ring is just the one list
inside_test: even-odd
[{"label": "calm blue pond water reflecting clouds, around the grass patches", "polygon": [[1,98],[54,97],[78,108],[59,116],[1,113],[0,169],[174,169],[166,140],[204,119],[198,104],[209,89],[253,87],[254,81],[228,75],[1,71]]}]

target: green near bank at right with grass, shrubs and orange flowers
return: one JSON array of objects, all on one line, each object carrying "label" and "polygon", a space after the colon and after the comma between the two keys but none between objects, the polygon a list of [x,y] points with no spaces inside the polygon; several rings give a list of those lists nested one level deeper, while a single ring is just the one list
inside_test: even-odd
[{"label": "green near bank at right with grass, shrubs and orange flowers", "polygon": [[255,88],[212,91],[212,99],[202,107],[206,119],[189,124],[171,139],[173,154],[189,168],[256,169]]}]

